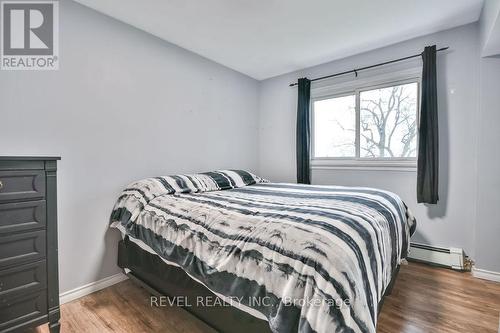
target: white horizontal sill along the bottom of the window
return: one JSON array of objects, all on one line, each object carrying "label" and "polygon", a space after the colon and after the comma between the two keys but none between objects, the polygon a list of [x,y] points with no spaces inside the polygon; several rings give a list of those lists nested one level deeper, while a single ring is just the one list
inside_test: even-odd
[{"label": "white horizontal sill along the bottom of the window", "polygon": [[313,170],[360,170],[360,171],[402,171],[417,172],[416,160],[342,160],[342,159],[314,159],[311,160]]}]

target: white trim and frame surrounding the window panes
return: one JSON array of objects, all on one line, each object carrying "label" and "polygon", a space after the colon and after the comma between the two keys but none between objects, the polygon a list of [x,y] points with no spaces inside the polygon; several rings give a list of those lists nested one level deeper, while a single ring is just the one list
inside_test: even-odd
[{"label": "white trim and frame surrounding the window panes", "polygon": [[[391,73],[384,73],[370,77],[358,77],[354,80],[335,82],[335,80],[325,80],[321,84],[314,85],[311,89],[311,168],[312,169],[336,169],[336,170],[366,170],[366,171],[408,171],[417,170],[417,158],[356,158],[356,157],[314,157],[314,102],[328,98],[341,97],[346,95],[356,96],[356,156],[360,156],[358,143],[359,136],[359,92],[382,88],[397,84],[418,82],[421,93],[421,67],[400,70]],[[417,124],[420,118],[420,98],[417,106]]]}]

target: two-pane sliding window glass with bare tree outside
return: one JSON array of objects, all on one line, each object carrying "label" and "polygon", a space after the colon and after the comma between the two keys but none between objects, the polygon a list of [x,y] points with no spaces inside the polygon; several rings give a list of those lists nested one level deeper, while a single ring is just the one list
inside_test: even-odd
[{"label": "two-pane sliding window glass with bare tree outside", "polygon": [[418,79],[313,98],[313,159],[415,161],[418,103]]}]

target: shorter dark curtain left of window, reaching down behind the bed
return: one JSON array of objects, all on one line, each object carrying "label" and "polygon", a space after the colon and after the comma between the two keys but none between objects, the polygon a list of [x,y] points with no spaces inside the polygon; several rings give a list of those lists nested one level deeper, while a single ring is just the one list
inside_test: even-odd
[{"label": "shorter dark curtain left of window, reaching down behind the bed", "polygon": [[297,183],[311,184],[309,166],[311,154],[311,81],[307,78],[298,81],[297,101]]}]

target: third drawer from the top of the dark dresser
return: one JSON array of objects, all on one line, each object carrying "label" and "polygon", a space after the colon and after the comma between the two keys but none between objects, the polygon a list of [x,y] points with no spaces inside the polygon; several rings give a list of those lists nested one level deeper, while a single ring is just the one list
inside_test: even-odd
[{"label": "third drawer from the top of the dark dresser", "polygon": [[0,269],[45,258],[45,231],[0,236]]}]

